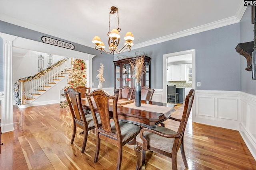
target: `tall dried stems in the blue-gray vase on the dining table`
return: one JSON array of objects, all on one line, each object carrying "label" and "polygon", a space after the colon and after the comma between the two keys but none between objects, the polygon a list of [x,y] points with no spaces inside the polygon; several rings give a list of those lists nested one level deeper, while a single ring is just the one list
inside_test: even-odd
[{"label": "tall dried stems in the blue-gray vase on the dining table", "polygon": [[143,74],[146,73],[146,63],[144,62],[145,56],[136,57],[135,60],[130,60],[130,64],[132,70],[134,70],[134,74],[132,78],[136,80],[136,82],[140,82]]}]

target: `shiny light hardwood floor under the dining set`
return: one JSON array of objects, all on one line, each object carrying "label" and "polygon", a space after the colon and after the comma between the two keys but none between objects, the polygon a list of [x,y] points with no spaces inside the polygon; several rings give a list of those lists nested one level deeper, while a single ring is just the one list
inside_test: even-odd
[{"label": "shiny light hardwood floor under the dining set", "polygon": [[[180,117],[183,105],[175,107]],[[3,133],[1,170],[114,170],[117,148],[102,141],[98,162],[94,163],[96,136],[90,131],[85,152],[81,154],[83,135],[78,128],[74,145],[70,144],[72,121],[70,112],[58,104],[19,109],[14,106],[14,131]],[[176,130],[178,124],[165,121]],[[238,131],[188,122],[184,137],[190,170],[255,170],[256,161]],[[136,167],[134,145],[123,147],[122,170]],[[147,170],[170,170],[171,159],[154,152],[146,154]],[[184,170],[180,151],[178,169]]]}]

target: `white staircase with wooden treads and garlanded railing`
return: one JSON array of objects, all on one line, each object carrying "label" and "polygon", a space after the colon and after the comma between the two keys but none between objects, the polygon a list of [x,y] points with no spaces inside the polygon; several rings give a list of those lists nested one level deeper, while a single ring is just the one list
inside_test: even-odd
[{"label": "white staircase with wooden treads and garlanded railing", "polygon": [[[72,70],[72,59],[68,58],[61,64],[53,65],[35,76],[20,81],[20,108],[33,106],[32,103],[42,98],[52,87],[69,76]],[[64,86],[62,87],[64,88]],[[49,99],[50,100],[50,99]]]}]

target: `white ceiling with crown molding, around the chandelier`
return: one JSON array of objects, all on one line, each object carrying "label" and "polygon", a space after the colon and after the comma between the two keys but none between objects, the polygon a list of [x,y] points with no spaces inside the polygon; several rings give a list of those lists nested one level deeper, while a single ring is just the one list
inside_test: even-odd
[{"label": "white ceiling with crown molding, around the chandelier", "polygon": [[[131,31],[134,49],[238,23],[243,0],[0,0],[0,20],[93,47],[107,46],[111,6],[119,9],[120,43]],[[110,31],[117,28],[111,15]]]}]

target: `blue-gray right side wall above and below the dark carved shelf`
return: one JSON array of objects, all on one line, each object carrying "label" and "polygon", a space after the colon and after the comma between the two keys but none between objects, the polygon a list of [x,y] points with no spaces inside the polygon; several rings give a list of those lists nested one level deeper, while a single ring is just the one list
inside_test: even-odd
[{"label": "blue-gray right side wall above and below the dark carved shelf", "polygon": [[[240,43],[246,43],[253,41],[254,39],[254,25],[252,24],[252,13],[251,8],[248,7],[242,20],[240,21]],[[252,71],[246,71],[247,66],[246,59],[240,56],[240,74],[241,74],[241,91],[249,94],[256,95],[256,80],[252,80]]]}]

